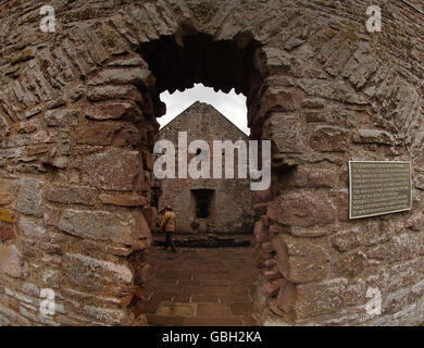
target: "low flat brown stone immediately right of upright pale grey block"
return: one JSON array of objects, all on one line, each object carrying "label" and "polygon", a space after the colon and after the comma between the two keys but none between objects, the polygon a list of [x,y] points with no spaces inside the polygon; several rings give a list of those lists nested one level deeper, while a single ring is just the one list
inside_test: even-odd
[{"label": "low flat brown stone immediately right of upright pale grey block", "polygon": [[92,206],[96,200],[96,189],[87,186],[51,185],[46,188],[45,197],[58,203]]}]

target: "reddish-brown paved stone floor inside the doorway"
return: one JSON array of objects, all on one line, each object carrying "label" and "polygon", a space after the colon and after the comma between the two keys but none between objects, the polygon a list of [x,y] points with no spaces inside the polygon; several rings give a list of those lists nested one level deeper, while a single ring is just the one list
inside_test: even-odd
[{"label": "reddish-brown paved stone floor inside the doorway", "polygon": [[145,289],[149,325],[255,325],[252,318],[255,268],[253,247],[178,248],[149,251]]}]

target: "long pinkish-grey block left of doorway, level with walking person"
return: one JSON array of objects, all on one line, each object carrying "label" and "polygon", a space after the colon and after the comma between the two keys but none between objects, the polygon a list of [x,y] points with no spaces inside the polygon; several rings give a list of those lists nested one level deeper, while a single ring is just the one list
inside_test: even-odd
[{"label": "long pinkish-grey block left of doorway, level with walking person", "polygon": [[134,245],[150,238],[150,229],[141,212],[83,211],[66,209],[59,228],[74,236]]}]

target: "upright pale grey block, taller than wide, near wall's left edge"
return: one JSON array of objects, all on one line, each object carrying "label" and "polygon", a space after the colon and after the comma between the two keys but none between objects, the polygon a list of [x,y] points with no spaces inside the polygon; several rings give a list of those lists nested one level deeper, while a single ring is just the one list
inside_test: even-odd
[{"label": "upright pale grey block, taller than wide, near wall's left edge", "polygon": [[16,209],[26,215],[42,217],[42,187],[43,182],[34,178],[22,178],[17,195]]}]

